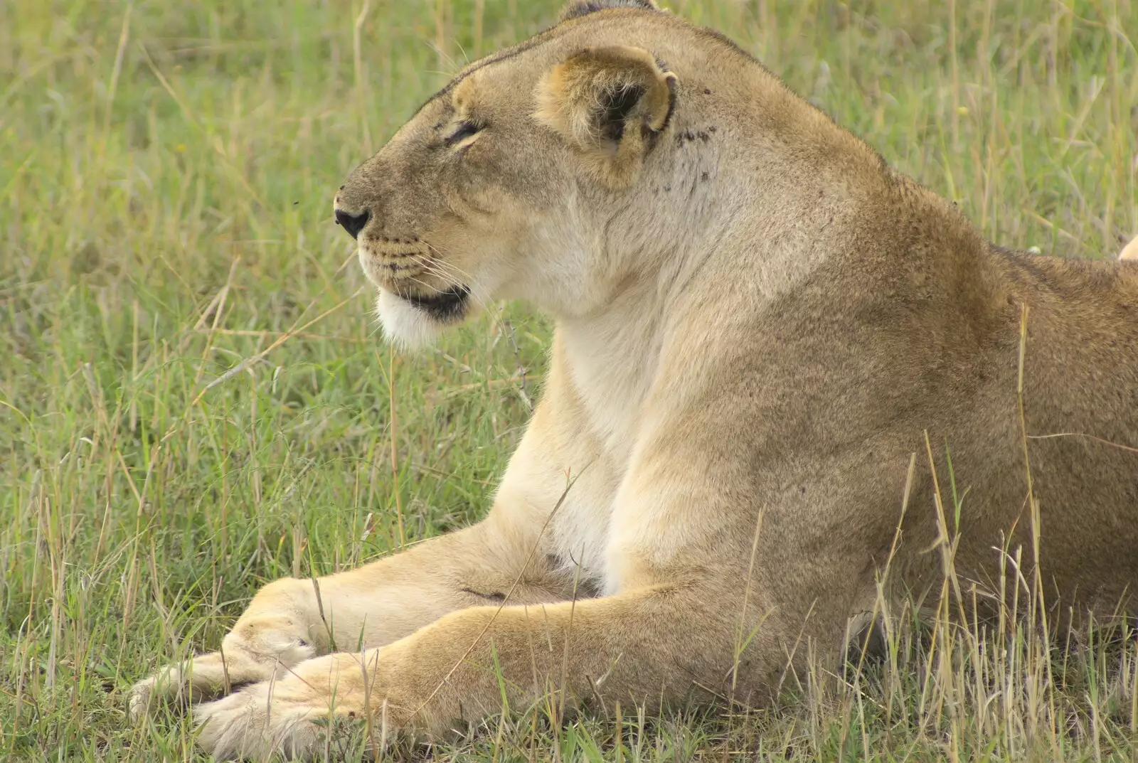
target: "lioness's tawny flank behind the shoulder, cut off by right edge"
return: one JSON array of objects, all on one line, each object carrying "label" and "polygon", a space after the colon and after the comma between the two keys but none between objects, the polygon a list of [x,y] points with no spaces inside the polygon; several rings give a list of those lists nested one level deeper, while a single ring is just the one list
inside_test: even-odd
[{"label": "lioness's tawny flank behind the shoulder, cut off by right edge", "polygon": [[[999,256],[1029,308],[1022,434],[1047,572],[1116,603],[1138,587],[1138,263]],[[1019,357],[1004,363],[1019,383]]]}]

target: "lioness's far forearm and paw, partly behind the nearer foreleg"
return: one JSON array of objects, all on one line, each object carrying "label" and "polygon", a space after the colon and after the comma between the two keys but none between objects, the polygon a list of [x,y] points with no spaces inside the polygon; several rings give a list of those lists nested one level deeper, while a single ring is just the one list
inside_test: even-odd
[{"label": "lioness's far forearm and paw, partly behind the nearer foreleg", "polygon": [[358,570],[274,581],[257,592],[218,652],[138,682],[130,708],[138,715],[159,702],[196,703],[283,679],[312,657],[389,644],[448,612],[506,594],[514,602],[569,596],[571,581],[543,555],[527,554],[536,537],[512,537],[529,548],[517,544],[514,551],[488,520]]}]

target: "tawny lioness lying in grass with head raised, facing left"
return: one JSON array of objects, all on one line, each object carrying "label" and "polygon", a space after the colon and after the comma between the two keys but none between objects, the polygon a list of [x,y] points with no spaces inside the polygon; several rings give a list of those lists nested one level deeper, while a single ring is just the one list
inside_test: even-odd
[{"label": "tawny lioness lying in grass with head raised, facing left", "polygon": [[464,68],[336,217],[393,341],[525,299],[556,318],[551,367],[483,522],[278,580],[221,652],[135,687],[135,711],[213,699],[218,756],[313,755],[330,716],[431,737],[550,690],[768,702],[954,545],[970,602],[1017,547],[1033,578],[1038,531],[1053,612],[1133,605],[1138,266],[986,242],[649,0],[571,3]]}]

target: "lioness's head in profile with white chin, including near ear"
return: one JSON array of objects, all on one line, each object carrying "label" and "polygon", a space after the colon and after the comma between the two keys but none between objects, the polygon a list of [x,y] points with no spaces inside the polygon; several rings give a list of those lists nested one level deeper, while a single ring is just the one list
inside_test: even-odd
[{"label": "lioness's head in profile with white chin, including near ear", "polygon": [[609,44],[615,17],[644,16],[662,14],[582,15],[468,66],[348,176],[336,216],[390,339],[421,343],[493,299],[556,313],[595,296],[604,221],[675,109],[675,74]]}]

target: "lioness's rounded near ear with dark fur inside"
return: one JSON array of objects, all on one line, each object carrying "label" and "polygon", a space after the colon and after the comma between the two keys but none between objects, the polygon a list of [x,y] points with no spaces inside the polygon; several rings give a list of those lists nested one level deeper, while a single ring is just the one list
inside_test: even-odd
[{"label": "lioness's rounded near ear with dark fur inside", "polygon": [[593,48],[537,85],[538,121],[559,132],[605,180],[630,183],[676,107],[676,75],[642,48]]}]

